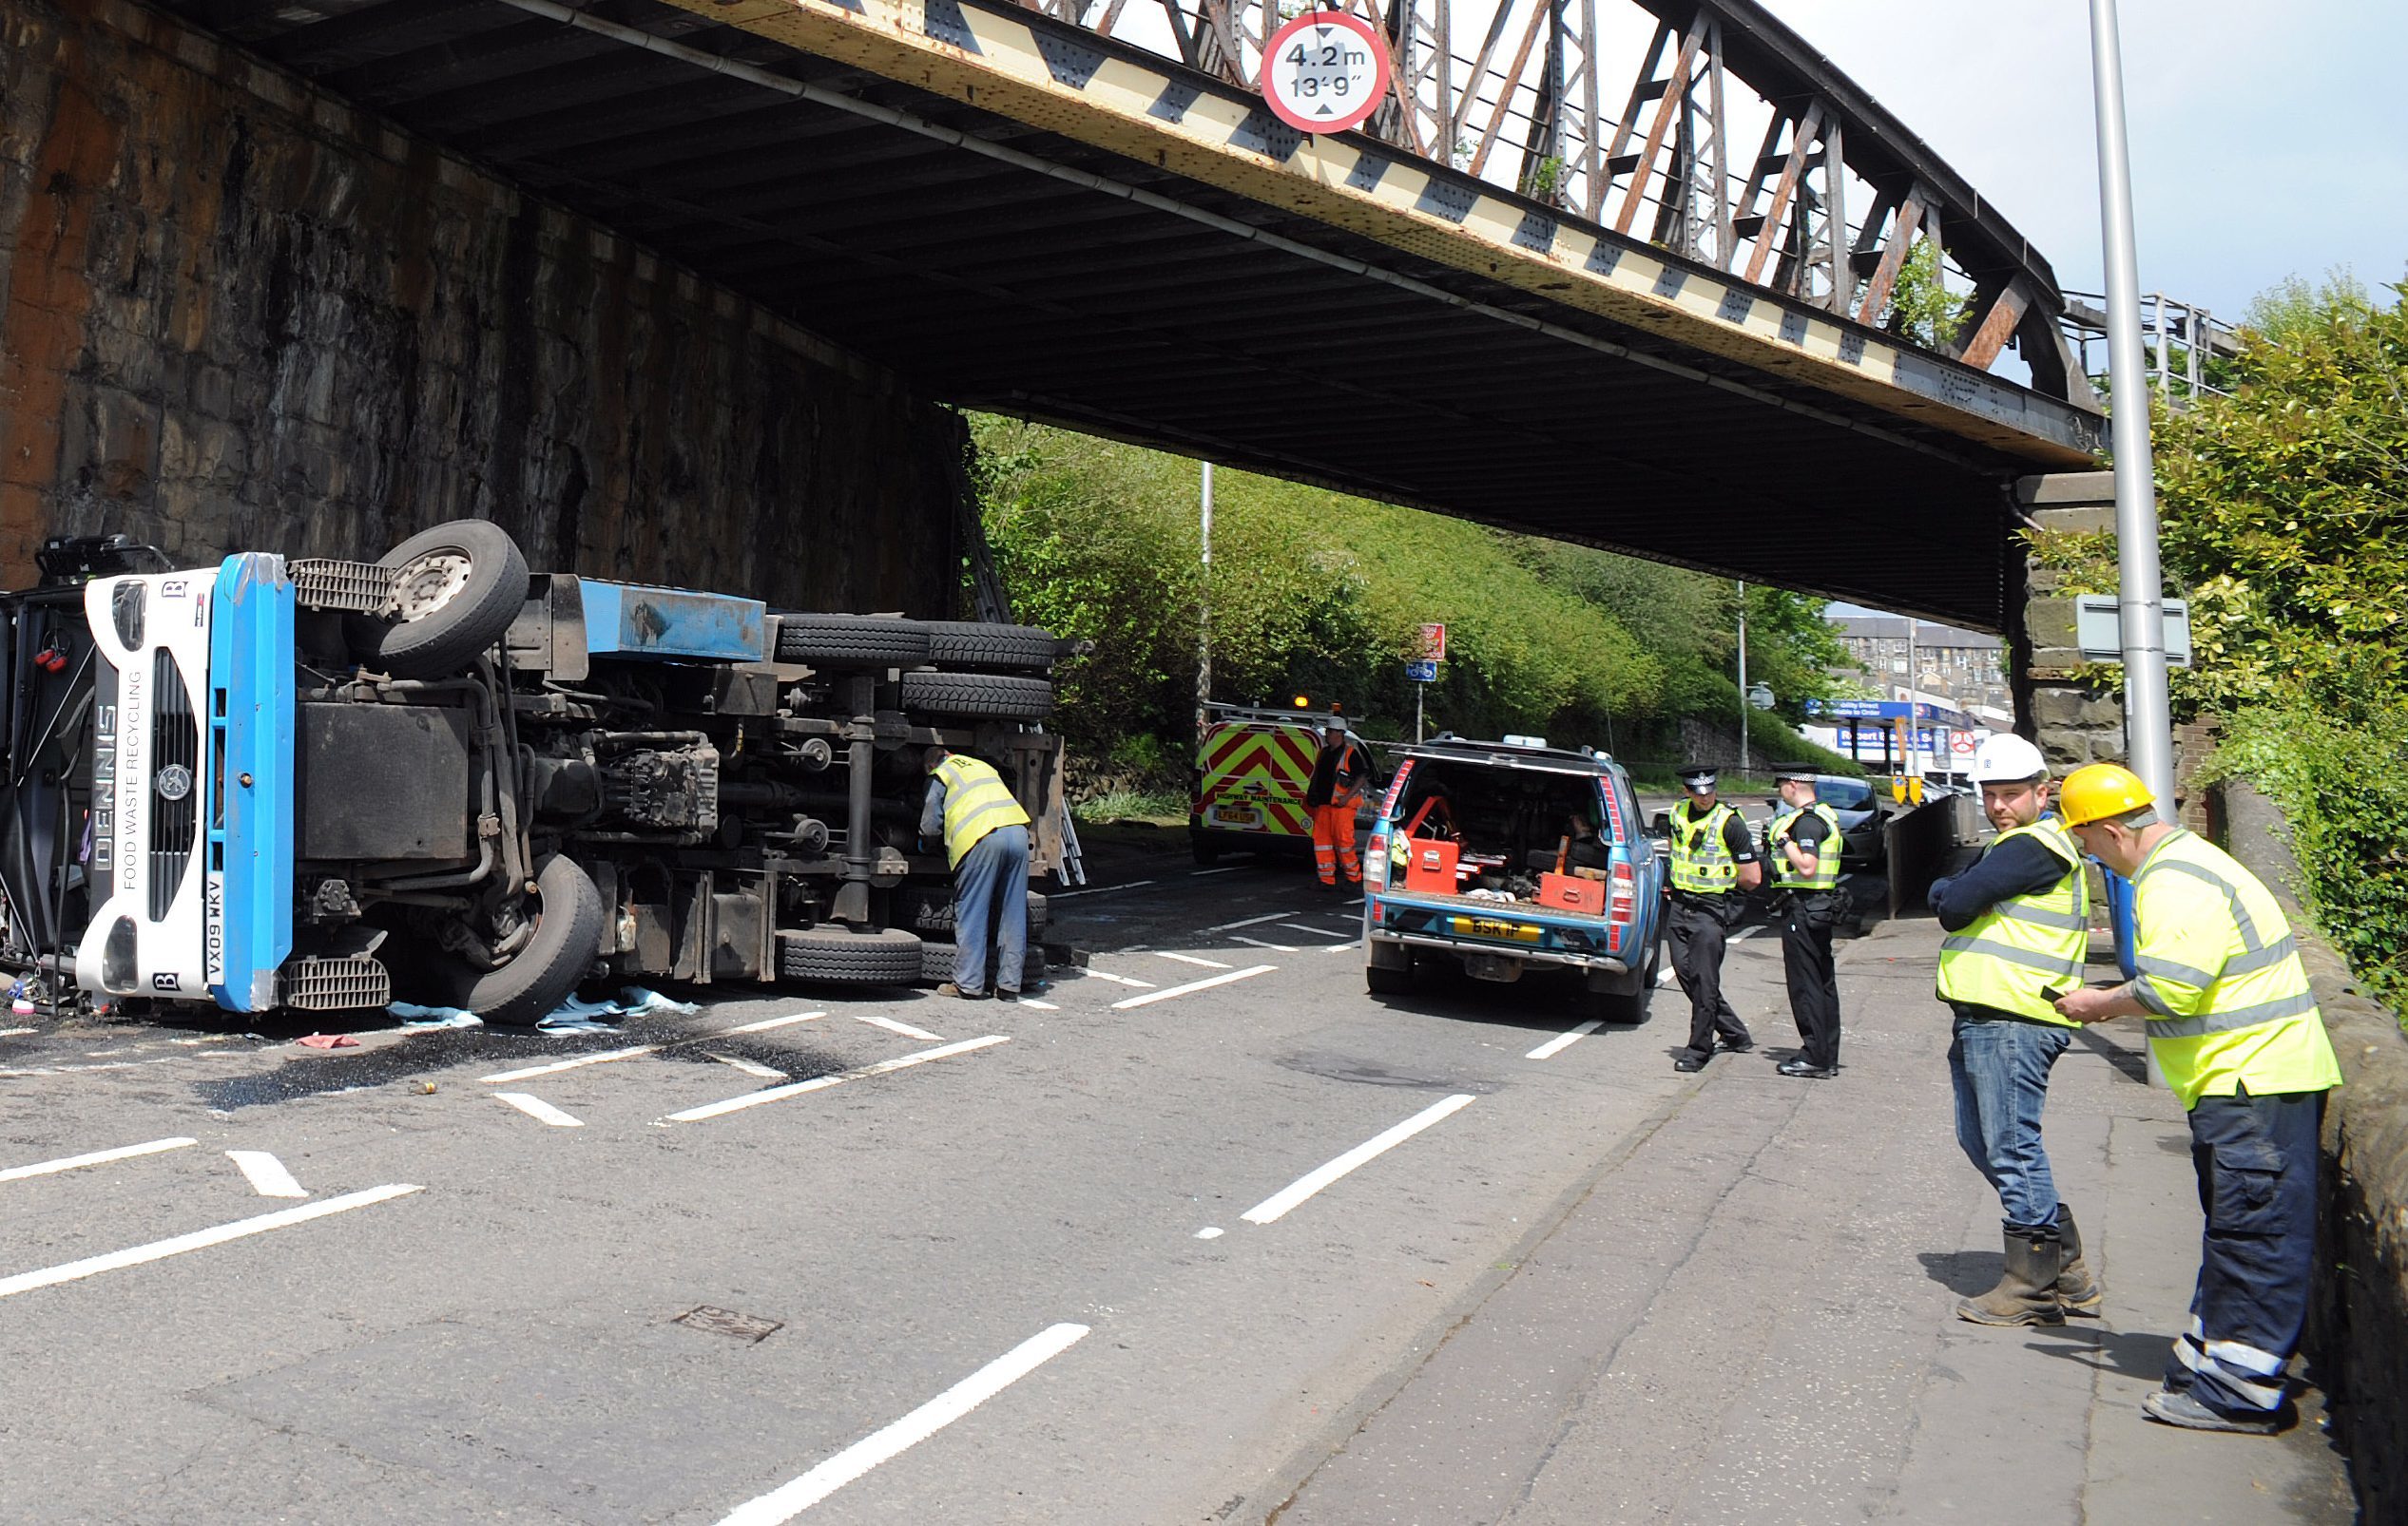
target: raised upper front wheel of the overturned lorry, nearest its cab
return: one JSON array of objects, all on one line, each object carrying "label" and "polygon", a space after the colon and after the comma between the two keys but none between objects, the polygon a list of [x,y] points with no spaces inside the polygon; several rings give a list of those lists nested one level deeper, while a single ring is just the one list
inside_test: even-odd
[{"label": "raised upper front wheel of the overturned lorry, nearest its cab", "polygon": [[376,558],[395,570],[400,619],[352,616],[352,655],[397,679],[445,679],[503,638],[527,602],[527,558],[491,520],[453,520]]}]

